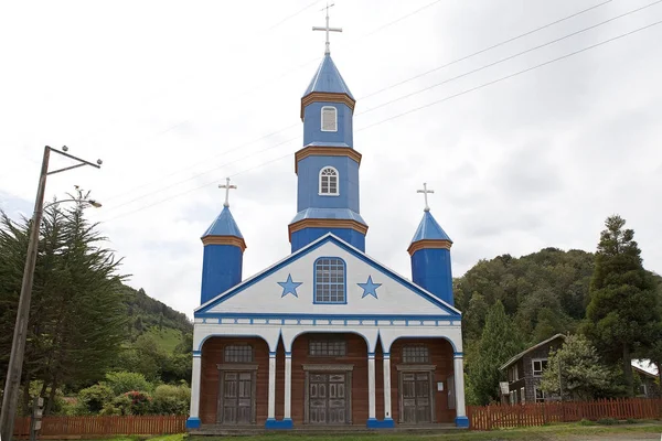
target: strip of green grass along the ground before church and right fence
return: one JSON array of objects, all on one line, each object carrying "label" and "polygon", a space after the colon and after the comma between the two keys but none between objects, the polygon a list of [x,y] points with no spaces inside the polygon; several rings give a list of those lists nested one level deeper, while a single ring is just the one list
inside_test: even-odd
[{"label": "strip of green grass along the ground before church and right fence", "polygon": [[[638,422],[619,426],[586,426],[580,423],[549,424],[543,427],[502,429],[491,432],[457,431],[450,433],[405,433],[377,432],[360,434],[297,434],[291,432],[271,432],[261,435],[233,438],[237,441],[405,441],[405,440],[458,440],[458,441],[500,441],[500,440],[578,440],[581,437],[601,437],[608,434],[628,433],[662,433],[662,422]],[[580,438],[577,438],[580,437]],[[108,441],[225,441],[227,437],[189,437],[188,434],[171,434],[162,437],[122,437]],[[98,441],[98,440],[97,440]]]}]

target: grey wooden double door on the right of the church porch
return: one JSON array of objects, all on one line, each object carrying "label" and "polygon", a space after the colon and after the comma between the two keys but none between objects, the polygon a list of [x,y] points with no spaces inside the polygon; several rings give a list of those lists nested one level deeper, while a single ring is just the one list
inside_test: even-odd
[{"label": "grey wooden double door on the right of the church porch", "polygon": [[431,422],[431,399],[429,373],[402,374],[402,422]]}]

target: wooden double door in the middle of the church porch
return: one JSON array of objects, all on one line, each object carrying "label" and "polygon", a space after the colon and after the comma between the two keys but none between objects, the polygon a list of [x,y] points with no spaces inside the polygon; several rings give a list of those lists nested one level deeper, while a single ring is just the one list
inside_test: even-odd
[{"label": "wooden double door in the middle of the church porch", "polygon": [[310,374],[308,415],[311,424],[348,423],[345,374]]}]

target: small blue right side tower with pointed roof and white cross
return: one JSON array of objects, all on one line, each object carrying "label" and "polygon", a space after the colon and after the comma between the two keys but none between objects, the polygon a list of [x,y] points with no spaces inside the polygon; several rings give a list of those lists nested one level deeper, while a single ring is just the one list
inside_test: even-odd
[{"label": "small blue right side tower with pointed roof and white cross", "polygon": [[418,193],[425,195],[423,219],[418,224],[407,252],[412,257],[412,280],[446,303],[453,305],[450,247],[452,240],[435,220],[427,203],[428,193],[434,193],[423,184]]}]

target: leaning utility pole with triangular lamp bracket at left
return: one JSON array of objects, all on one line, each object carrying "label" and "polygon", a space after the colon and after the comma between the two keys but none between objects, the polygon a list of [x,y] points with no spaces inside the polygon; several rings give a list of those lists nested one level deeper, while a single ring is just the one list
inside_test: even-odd
[{"label": "leaning utility pole with triangular lamp bracket at left", "polygon": [[[63,151],[55,150],[49,146],[44,147],[44,157],[42,169],[39,175],[39,186],[36,189],[36,200],[34,201],[34,214],[32,215],[32,225],[30,230],[30,241],[28,243],[28,256],[25,257],[25,267],[23,269],[23,282],[21,284],[21,297],[19,298],[19,310],[17,313],[17,323],[14,326],[11,354],[9,357],[9,368],[7,370],[7,381],[4,385],[4,395],[2,396],[2,411],[0,412],[0,439],[11,441],[13,437],[13,423],[19,402],[19,388],[21,384],[21,374],[23,372],[23,356],[25,352],[25,338],[28,334],[28,320],[30,316],[30,300],[32,298],[32,282],[34,280],[34,267],[36,265],[36,254],[39,250],[39,233],[44,208],[44,192],[46,190],[46,178],[49,174],[55,174],[79,166],[90,165],[99,169],[102,160],[97,163],[85,161],[81,158],[66,153],[68,148],[64,146]],[[51,152],[62,154],[73,159],[78,163],[63,169],[49,172],[49,160]]]}]

